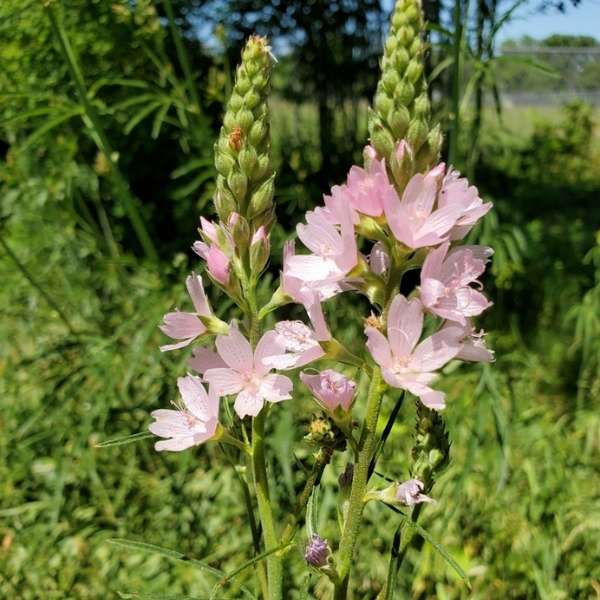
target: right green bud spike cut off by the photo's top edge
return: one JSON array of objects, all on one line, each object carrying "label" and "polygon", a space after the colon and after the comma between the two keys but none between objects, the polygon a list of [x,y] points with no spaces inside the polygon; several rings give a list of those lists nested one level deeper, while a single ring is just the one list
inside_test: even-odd
[{"label": "right green bud spike cut off by the photo's top edge", "polygon": [[[407,176],[436,162],[442,143],[439,127],[430,125],[431,107],[423,75],[423,30],[420,0],[397,0],[369,119],[371,143],[386,159],[400,187]],[[398,157],[395,146],[403,139],[411,153]]]}]

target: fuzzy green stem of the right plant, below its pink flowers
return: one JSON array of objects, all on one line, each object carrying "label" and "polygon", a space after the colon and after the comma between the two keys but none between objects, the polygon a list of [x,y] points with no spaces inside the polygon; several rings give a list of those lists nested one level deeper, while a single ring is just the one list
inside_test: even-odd
[{"label": "fuzzy green stem of the right plant, below its pink flowers", "polygon": [[335,586],[335,600],[345,600],[348,592],[352,555],[354,554],[354,547],[356,546],[360,530],[364,497],[367,491],[369,464],[371,463],[376,446],[377,420],[379,418],[383,391],[384,384],[381,379],[381,371],[378,368],[373,369],[373,376],[371,377],[367,396],[367,414],[359,441],[358,462],[352,478],[348,513],[337,559],[339,581]]}]

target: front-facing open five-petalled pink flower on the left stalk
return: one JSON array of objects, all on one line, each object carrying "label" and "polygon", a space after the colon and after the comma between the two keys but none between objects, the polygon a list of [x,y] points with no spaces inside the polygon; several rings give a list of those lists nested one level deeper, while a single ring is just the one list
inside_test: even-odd
[{"label": "front-facing open five-petalled pink flower on the left stalk", "polygon": [[270,374],[271,368],[265,365],[267,357],[284,352],[277,332],[265,333],[254,353],[248,340],[233,326],[228,335],[218,335],[215,343],[226,367],[206,370],[204,380],[219,396],[237,394],[234,408],[240,418],[255,417],[265,400],[281,402],[291,398],[290,379],[285,375]]}]

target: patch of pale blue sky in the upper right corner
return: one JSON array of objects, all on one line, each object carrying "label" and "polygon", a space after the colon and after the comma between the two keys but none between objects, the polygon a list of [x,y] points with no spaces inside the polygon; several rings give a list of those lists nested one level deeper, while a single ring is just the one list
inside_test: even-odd
[{"label": "patch of pale blue sky in the upper right corner", "polygon": [[498,40],[523,35],[539,39],[553,33],[591,35],[600,40],[600,0],[581,0],[578,7],[573,7],[568,0],[566,4],[564,13],[553,10],[540,14],[527,7],[517,11],[514,19],[499,32]]}]

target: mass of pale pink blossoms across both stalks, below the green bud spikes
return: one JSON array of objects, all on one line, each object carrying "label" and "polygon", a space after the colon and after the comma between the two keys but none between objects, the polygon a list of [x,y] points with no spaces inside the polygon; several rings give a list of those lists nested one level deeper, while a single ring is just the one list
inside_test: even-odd
[{"label": "mass of pale pink blossoms across both stalks, below the green bud spikes", "polygon": [[[396,149],[399,162],[405,153],[410,148],[401,142]],[[195,274],[187,278],[194,311],[165,316],[161,330],[175,343],[161,349],[183,348],[211,336],[215,349],[193,349],[188,365],[199,376],[179,380],[183,399],[179,410],[153,413],[156,422],[150,430],[167,438],[156,448],[181,450],[216,436],[222,397],[235,396],[234,410],[240,418],[256,416],[265,402],[291,398],[291,379],[273,371],[335,358],[327,354],[329,344],[337,342],[323,304],[345,291],[365,292],[367,280],[379,286],[380,297],[386,298],[385,306],[372,300],[381,316],[367,319],[365,328],[366,347],[383,378],[388,385],[414,394],[424,405],[443,408],[444,394],[431,387],[440,368],[452,359],[493,360],[483,332],[471,323],[472,317],[490,305],[478,278],[492,251],[453,245],[490,208],[476,188],[444,164],[412,176],[398,194],[385,162],[368,146],[365,168],[353,166],[346,182],[334,186],[323,205],[308,211],[305,223],[297,226],[298,238],[309,252],[297,254],[291,241],[284,247],[280,292],[288,301],[304,306],[310,326],[280,321],[253,348],[235,321],[227,325],[213,315],[202,279]],[[242,243],[236,234],[240,219],[236,213],[226,224],[201,218],[202,240],[193,246],[206,262],[210,278],[234,299],[240,275],[232,266],[243,263],[239,260]],[[250,233],[244,251],[250,248],[252,254],[255,244],[268,251],[265,228]],[[364,247],[358,243],[359,235],[371,243],[368,256],[359,251]],[[423,260],[420,286],[409,298],[398,292],[398,271],[407,257]],[[423,339],[426,315],[431,321],[428,330],[437,323],[437,331]],[[211,328],[215,321],[221,329]],[[325,410],[351,410],[356,383],[343,373],[311,370],[301,373],[300,379]]]}]

